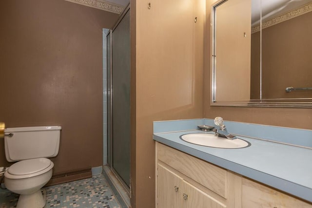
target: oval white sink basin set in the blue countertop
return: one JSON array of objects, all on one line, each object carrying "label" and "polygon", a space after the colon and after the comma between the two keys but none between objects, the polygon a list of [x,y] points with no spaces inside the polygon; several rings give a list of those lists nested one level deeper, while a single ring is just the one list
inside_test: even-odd
[{"label": "oval white sink basin set in the blue countertop", "polygon": [[180,136],[180,138],[186,142],[215,148],[236,149],[249,147],[251,144],[242,139],[227,139],[223,137],[215,136],[210,133],[189,133]]}]

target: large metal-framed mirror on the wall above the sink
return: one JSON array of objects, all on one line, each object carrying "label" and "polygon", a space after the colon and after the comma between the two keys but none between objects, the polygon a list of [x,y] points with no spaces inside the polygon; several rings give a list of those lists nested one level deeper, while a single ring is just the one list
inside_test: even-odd
[{"label": "large metal-framed mirror on the wall above the sink", "polygon": [[211,105],[312,107],[312,0],[219,0],[211,19]]}]

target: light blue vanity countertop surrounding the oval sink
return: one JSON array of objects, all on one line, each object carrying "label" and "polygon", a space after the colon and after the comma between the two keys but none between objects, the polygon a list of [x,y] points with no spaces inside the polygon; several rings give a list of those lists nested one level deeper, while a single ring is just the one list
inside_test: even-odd
[{"label": "light blue vanity countertop surrounding the oval sink", "polygon": [[219,167],[312,202],[312,149],[244,136],[251,143],[241,149],[210,148],[180,139],[199,130],[154,133],[154,140]]}]

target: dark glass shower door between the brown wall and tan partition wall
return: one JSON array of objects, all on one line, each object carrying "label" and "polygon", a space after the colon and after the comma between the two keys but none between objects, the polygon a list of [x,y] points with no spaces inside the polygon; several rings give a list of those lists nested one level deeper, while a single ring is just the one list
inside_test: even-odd
[{"label": "dark glass shower door between the brown wall and tan partition wall", "polygon": [[[111,36],[111,162],[112,170],[130,187],[130,10]],[[109,139],[108,139],[109,140]]]}]

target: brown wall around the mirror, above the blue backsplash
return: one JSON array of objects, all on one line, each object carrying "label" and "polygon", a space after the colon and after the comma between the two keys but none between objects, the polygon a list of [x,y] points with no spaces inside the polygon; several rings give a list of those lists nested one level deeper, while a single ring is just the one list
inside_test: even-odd
[{"label": "brown wall around the mirror, above the blue backsplash", "polygon": [[210,9],[215,0],[206,0],[206,43],[204,77],[204,117],[221,116],[225,120],[312,129],[312,109],[304,108],[254,108],[210,106]]}]

